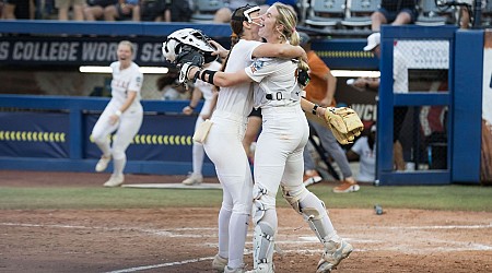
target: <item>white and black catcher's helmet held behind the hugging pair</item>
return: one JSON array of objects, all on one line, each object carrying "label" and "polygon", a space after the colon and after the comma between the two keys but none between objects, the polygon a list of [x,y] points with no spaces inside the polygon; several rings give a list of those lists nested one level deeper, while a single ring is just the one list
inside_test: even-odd
[{"label": "white and black catcher's helmet held behind the hugging pair", "polygon": [[166,60],[174,62],[176,56],[181,51],[183,46],[186,45],[202,52],[204,62],[209,63],[218,58],[216,56],[211,55],[216,48],[209,43],[209,39],[210,38],[199,29],[183,28],[169,34],[167,40],[162,43],[162,54]]}]

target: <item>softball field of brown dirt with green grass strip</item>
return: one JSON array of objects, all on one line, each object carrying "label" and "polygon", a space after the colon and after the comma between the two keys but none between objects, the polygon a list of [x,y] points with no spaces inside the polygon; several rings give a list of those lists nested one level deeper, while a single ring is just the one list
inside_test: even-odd
[{"label": "softball field of brown dirt with green grass strip", "polygon": [[[104,188],[108,174],[0,171],[0,271],[210,273],[219,189]],[[128,183],[184,176],[128,175]],[[216,178],[208,178],[216,182]],[[309,187],[355,251],[337,272],[491,272],[492,187]],[[384,214],[377,215],[374,205]],[[315,272],[321,253],[303,217],[278,195],[276,272]],[[253,227],[245,262],[253,264]],[[377,264],[377,268],[374,268]]]}]

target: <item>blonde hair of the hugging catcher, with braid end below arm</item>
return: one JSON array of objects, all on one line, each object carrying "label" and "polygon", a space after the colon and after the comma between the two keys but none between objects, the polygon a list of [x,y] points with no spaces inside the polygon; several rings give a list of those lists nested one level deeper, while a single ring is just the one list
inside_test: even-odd
[{"label": "blonde hair of the hugging catcher, with braid end below arm", "polygon": [[[298,46],[301,43],[301,37],[298,36],[295,26],[297,25],[297,15],[294,10],[286,4],[276,2],[273,7],[277,8],[279,15],[277,16],[277,23],[283,25],[283,31],[280,33],[282,38],[289,41],[293,46]],[[303,70],[308,70],[309,66],[301,58],[297,58],[297,67]]]}]

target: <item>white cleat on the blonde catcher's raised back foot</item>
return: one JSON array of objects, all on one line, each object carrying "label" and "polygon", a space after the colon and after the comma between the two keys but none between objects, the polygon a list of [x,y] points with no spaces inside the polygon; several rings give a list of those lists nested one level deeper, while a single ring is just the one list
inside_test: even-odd
[{"label": "white cleat on the blonde catcher's raised back foot", "polygon": [[329,273],[337,265],[352,253],[353,247],[345,240],[335,242],[332,240],[325,244],[325,252],[318,262],[316,273]]}]

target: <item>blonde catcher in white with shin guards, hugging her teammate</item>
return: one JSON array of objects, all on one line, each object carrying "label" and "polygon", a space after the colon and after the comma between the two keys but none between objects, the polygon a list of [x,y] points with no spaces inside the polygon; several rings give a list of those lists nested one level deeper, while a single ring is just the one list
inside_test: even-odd
[{"label": "blonde catcher in white with shin guards, hugging her teammate", "polygon": [[[270,7],[261,15],[259,35],[268,44],[298,45],[295,33],[296,16],[281,3]],[[198,78],[218,86],[257,82],[255,107],[261,107],[262,131],[255,153],[254,198],[254,270],[273,272],[274,237],[278,229],[276,195],[279,186],[292,207],[303,215],[324,245],[325,251],[317,265],[318,273],[331,272],[349,257],[353,247],[340,238],[325,209],[325,204],[303,183],[303,150],[309,129],[304,110],[324,117],[325,108],[303,99],[297,83],[297,69],[306,69],[304,61],[259,58],[237,73],[198,72]],[[197,69],[189,71],[197,74]],[[227,72],[227,71],[225,71]]]}]

